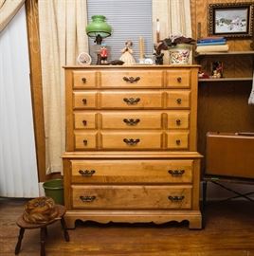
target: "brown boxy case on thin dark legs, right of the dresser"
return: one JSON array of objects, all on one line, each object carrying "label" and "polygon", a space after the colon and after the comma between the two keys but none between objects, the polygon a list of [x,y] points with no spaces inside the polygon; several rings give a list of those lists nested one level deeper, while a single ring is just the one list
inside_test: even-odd
[{"label": "brown boxy case on thin dark legs, right of the dresser", "polygon": [[254,178],[254,133],[208,133],[206,174]]}]

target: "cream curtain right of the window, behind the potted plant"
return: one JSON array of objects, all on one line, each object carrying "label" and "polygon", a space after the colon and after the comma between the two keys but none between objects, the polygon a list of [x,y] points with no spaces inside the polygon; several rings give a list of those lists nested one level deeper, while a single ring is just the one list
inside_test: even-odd
[{"label": "cream curtain right of the window, behind the potted plant", "polygon": [[[191,37],[191,4],[190,0],[153,0],[153,24],[160,23],[160,39],[172,34],[183,34]],[[156,39],[154,29],[154,40]],[[154,42],[155,44],[156,42]],[[164,64],[169,64],[169,53],[164,52]]]}]

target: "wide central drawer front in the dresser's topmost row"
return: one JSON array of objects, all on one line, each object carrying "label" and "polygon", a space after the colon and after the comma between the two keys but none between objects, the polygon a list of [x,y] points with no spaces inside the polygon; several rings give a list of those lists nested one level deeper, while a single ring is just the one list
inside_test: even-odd
[{"label": "wide central drawer front in the dresser's topmost row", "polygon": [[157,88],[162,87],[162,70],[102,71],[102,88]]}]

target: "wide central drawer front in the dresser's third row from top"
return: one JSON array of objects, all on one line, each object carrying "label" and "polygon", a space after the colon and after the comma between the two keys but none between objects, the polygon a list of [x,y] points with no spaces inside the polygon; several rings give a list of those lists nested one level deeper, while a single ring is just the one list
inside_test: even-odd
[{"label": "wide central drawer front in the dresser's third row from top", "polygon": [[161,112],[102,112],[102,129],[160,129]]}]

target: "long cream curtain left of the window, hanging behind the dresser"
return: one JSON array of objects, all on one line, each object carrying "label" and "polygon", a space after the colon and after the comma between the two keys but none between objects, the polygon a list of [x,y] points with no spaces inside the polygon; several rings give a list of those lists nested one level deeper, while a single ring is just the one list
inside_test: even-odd
[{"label": "long cream curtain left of the window, hanging behind the dresser", "polygon": [[88,51],[86,0],[39,0],[46,174],[62,172],[65,148],[64,70]]}]

